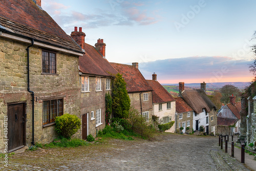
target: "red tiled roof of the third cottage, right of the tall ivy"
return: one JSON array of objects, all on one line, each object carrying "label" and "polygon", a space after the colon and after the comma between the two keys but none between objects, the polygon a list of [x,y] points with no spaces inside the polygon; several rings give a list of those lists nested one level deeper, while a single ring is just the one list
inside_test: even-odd
[{"label": "red tiled roof of the third cottage, right of the tall ivy", "polygon": [[121,63],[111,63],[111,65],[120,73],[126,82],[127,92],[146,92],[153,91],[140,71],[130,65]]}]

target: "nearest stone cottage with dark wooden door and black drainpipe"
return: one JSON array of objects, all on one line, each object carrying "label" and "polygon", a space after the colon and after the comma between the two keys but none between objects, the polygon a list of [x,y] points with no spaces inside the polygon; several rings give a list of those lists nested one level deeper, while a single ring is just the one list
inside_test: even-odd
[{"label": "nearest stone cottage with dark wooden door and black drainpipe", "polygon": [[[56,116],[80,116],[83,51],[40,6],[40,1],[0,1],[1,152],[6,139],[8,152],[51,142]],[[75,136],[80,135],[81,130]]]}]

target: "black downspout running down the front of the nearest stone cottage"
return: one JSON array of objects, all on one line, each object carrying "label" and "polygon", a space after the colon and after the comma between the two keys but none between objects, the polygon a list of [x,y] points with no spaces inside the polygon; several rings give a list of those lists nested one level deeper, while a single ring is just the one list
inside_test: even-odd
[{"label": "black downspout running down the front of the nearest stone cottage", "polygon": [[28,92],[31,93],[32,96],[32,145],[35,145],[34,142],[34,92],[30,90],[30,86],[29,86],[29,48],[32,47],[34,45],[34,39],[31,40],[31,45],[29,45],[27,47],[27,62],[28,62]]}]

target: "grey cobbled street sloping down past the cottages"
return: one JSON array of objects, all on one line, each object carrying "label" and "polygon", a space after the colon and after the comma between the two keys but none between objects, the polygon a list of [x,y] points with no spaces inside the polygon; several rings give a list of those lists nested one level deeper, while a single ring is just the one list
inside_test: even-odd
[{"label": "grey cobbled street sloping down past the cottages", "polygon": [[0,169],[249,170],[220,149],[218,137],[179,134],[162,134],[153,141],[110,139],[85,147],[26,151]]}]

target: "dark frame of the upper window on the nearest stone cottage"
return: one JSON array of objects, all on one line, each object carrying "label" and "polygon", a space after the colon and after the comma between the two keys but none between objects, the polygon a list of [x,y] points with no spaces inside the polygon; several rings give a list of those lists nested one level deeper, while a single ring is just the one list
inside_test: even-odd
[{"label": "dark frame of the upper window on the nearest stone cottage", "polygon": [[[47,53],[48,56],[44,55],[45,53]],[[51,55],[50,54],[54,54],[54,65],[50,65],[50,62],[51,62]],[[41,66],[42,67],[42,72],[41,73],[42,74],[56,75],[57,74],[57,57],[56,57],[56,52],[43,49],[42,50],[42,54],[41,54],[41,59],[42,59],[42,66]],[[46,66],[48,66],[48,68]],[[50,66],[53,66],[54,69],[50,68]],[[47,72],[47,70],[49,70],[49,71]],[[51,70],[54,70],[54,73],[51,72]]]}]

